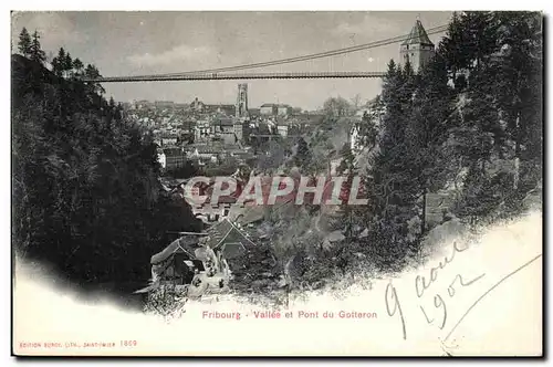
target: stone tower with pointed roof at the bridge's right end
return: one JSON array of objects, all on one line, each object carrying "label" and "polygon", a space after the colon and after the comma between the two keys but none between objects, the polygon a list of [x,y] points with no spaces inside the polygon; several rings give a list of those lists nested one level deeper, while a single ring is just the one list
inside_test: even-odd
[{"label": "stone tower with pointed roof at the bridge's right end", "polygon": [[409,38],[400,45],[399,63],[405,65],[409,61],[413,70],[417,73],[432,56],[434,43],[428,38],[420,20],[417,19]]}]

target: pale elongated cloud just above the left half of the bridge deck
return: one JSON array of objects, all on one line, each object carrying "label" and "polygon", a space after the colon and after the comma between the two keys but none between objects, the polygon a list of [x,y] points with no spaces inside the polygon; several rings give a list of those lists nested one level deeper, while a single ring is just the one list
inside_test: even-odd
[{"label": "pale elongated cloud just above the left half of the bridge deck", "polygon": [[167,65],[176,62],[189,62],[205,60],[206,56],[212,55],[213,50],[209,46],[191,46],[180,44],[160,53],[143,53],[127,57],[127,60],[136,66],[158,66]]}]

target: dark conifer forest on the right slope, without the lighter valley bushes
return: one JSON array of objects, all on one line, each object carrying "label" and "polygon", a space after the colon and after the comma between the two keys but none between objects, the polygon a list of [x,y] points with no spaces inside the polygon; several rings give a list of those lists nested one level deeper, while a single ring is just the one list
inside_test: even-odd
[{"label": "dark conifer forest on the right slope, without the lighter valley bushes", "polygon": [[[456,13],[419,73],[389,63],[371,208],[361,214],[369,238],[394,254],[416,248],[426,232],[420,201],[450,186],[459,192],[452,214],[470,224],[525,209],[542,184],[541,30],[539,13]],[[413,217],[421,227],[409,241]]]}]

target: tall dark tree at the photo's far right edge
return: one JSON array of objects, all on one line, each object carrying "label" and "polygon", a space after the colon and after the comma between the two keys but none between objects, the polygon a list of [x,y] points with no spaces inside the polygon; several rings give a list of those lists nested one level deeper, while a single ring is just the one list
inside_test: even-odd
[{"label": "tall dark tree at the photo's far right edge", "polygon": [[533,12],[498,12],[494,23],[502,52],[491,60],[487,76],[492,77],[491,93],[507,120],[505,138],[514,141],[517,189],[521,161],[541,169],[542,24],[540,14]]}]

